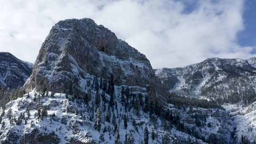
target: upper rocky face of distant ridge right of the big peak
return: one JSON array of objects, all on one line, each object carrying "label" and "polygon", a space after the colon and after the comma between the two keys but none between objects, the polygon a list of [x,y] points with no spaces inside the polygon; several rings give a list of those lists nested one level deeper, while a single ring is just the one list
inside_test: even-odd
[{"label": "upper rocky face of distant ridge right of the big peak", "polygon": [[178,94],[225,102],[253,102],[255,94],[255,58],[210,58],[182,68],[155,70],[165,87]]}]

